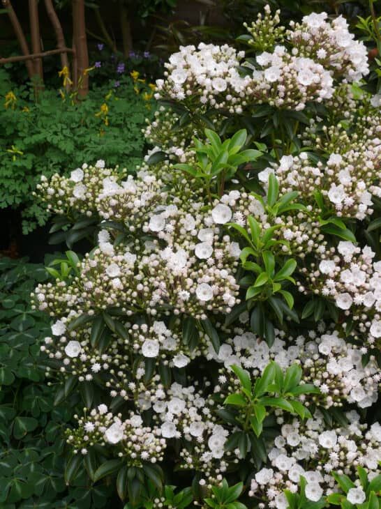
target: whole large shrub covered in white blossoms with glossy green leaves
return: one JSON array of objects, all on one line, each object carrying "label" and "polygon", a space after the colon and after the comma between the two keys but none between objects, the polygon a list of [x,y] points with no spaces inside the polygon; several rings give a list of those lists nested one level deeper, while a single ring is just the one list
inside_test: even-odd
[{"label": "whole large shrub covered in white blossoms with glossy green leaves", "polygon": [[170,56],[136,173],[38,185],[70,246],[32,294],[56,397],[84,401],[66,483],[125,509],[378,508],[380,63],[340,16],[245,28],[246,53]]}]

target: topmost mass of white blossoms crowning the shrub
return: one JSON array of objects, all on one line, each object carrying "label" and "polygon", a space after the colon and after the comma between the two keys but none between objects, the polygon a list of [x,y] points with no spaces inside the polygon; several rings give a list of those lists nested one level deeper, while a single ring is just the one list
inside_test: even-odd
[{"label": "topmost mass of white blossoms crowning the shrub", "polygon": [[[354,40],[343,17],[329,23],[327,14],[305,16],[301,24],[287,31],[291,48],[279,45],[283,27],[278,13],[273,20],[269,8],[251,28],[252,46],[271,51],[257,55],[257,70],[227,45],[180,47],[166,63],[165,79],[156,82],[156,98],[170,98],[188,105],[208,105],[241,114],[251,105],[268,102],[275,107],[301,110],[306,102],[329,100],[334,96],[334,79],[358,81],[368,73],[366,46]],[[278,43],[278,45],[276,45]],[[240,66],[253,74],[242,75]]]}]

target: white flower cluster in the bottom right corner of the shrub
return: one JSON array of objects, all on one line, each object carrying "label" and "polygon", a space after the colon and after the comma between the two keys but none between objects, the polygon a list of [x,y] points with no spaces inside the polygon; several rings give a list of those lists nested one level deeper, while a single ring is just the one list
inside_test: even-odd
[{"label": "white flower cluster in the bottom right corner of the shrub", "polygon": [[297,492],[301,476],[307,482],[306,498],[313,502],[336,492],[331,471],[350,476],[360,465],[367,469],[369,478],[374,478],[381,459],[381,427],[376,423],[366,430],[355,411],[346,416],[348,427],[336,430],[322,431],[324,421],[319,412],[306,424],[294,420],[283,425],[269,452],[271,468],[255,474],[251,496],[266,500],[269,508],[287,509],[283,490]]}]

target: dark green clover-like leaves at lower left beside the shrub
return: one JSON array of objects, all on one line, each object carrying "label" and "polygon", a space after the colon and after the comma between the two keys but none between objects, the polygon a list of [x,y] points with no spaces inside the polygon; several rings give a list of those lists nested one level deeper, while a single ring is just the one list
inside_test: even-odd
[{"label": "dark green clover-like leaves at lower left beside the shrub", "polygon": [[49,319],[29,295],[46,279],[43,265],[0,259],[0,507],[104,507],[107,487],[87,487],[84,471],[73,487],[64,480],[63,429],[78,398],[55,404],[44,380],[39,340]]}]

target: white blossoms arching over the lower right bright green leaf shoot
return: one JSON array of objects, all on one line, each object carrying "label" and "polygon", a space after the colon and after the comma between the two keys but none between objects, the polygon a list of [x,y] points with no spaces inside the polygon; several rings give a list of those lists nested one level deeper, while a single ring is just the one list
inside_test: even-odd
[{"label": "white blossoms arching over the lower right bright green leaf shoot", "polygon": [[[322,331],[324,324],[319,328]],[[286,337],[284,331],[276,331],[276,340],[269,348],[253,333],[241,331],[227,339],[218,354],[209,346],[206,356],[225,366],[220,370],[219,393],[226,392],[226,384],[232,383],[230,366],[244,367],[255,377],[274,360],[283,368],[299,363],[303,369],[302,381],[320,389],[319,395],[306,396],[307,406],[314,402],[325,408],[343,407],[348,402],[359,408],[371,407],[378,400],[380,368],[374,358],[363,366],[361,349],[348,344],[338,334],[338,331],[327,331],[316,335],[310,331],[307,337],[294,338]]]}]

